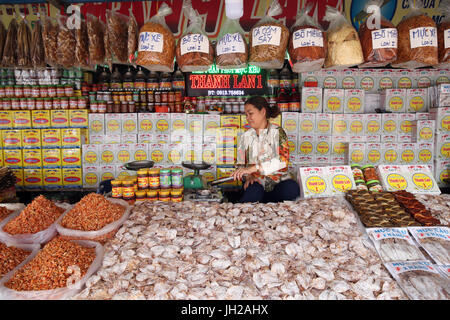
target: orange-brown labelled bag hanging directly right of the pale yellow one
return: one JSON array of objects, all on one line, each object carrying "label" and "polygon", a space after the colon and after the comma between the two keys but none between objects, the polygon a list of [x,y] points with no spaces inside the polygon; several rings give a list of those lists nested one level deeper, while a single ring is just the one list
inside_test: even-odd
[{"label": "orange-brown labelled bag hanging directly right of the pale yellow one", "polygon": [[[365,8],[366,12],[371,5],[377,6],[381,11],[383,0],[369,2]],[[371,23],[369,17],[359,27],[359,39],[364,55],[364,63],[359,65],[360,68],[384,67],[397,59],[397,28],[383,16],[380,19],[380,28],[372,28]]]}]

